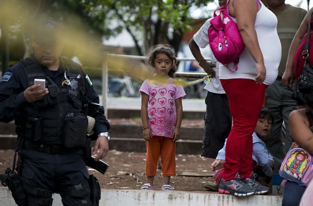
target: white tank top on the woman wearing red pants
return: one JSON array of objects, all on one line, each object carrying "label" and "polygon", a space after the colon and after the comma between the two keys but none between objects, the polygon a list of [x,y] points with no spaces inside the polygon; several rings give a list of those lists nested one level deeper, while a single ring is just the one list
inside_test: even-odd
[{"label": "white tank top on the woman wearing red pants", "polygon": [[[266,78],[264,83],[272,84],[278,74],[278,66],[281,59],[282,47],[277,34],[277,18],[276,16],[261,3],[261,9],[258,11],[255,20],[255,31],[259,45],[263,54],[264,64],[266,68]],[[236,19],[232,18],[235,22]],[[235,70],[234,63],[227,64],[231,70]],[[247,48],[239,57],[238,70],[236,72],[229,71],[223,64],[220,64],[220,79],[250,79],[255,80],[256,69],[255,61],[251,57]]]}]

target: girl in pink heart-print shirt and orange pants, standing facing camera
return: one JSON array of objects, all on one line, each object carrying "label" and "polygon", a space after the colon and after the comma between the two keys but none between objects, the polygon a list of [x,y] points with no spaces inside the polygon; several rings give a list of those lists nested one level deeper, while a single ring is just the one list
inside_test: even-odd
[{"label": "girl in pink heart-print shirt and orange pants, standing facing camera", "polygon": [[156,45],[148,57],[148,64],[156,73],[139,89],[142,135],[147,148],[147,183],[141,189],[154,189],[157,161],[161,157],[162,190],[173,190],[170,177],[176,175],[175,149],[182,119],[181,98],[186,94],[182,86],[172,83],[177,61],[168,45]]}]

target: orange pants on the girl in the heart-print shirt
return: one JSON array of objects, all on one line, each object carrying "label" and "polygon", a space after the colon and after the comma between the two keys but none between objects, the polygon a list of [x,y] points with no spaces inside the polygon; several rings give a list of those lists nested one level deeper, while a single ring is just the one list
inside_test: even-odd
[{"label": "orange pants on the girl in the heart-print shirt", "polygon": [[176,142],[173,142],[172,138],[153,136],[152,140],[146,141],[146,148],[146,176],[156,175],[157,161],[160,156],[163,176],[176,175]]}]

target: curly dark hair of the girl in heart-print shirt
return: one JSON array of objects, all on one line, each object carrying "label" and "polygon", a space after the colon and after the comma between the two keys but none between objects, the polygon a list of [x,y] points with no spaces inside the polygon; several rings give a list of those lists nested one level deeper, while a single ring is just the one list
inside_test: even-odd
[{"label": "curly dark hair of the girl in heart-print shirt", "polygon": [[155,60],[156,60],[156,55],[158,54],[165,54],[171,61],[172,61],[172,68],[170,69],[168,76],[171,78],[174,78],[174,73],[176,72],[176,56],[174,52],[172,51],[170,45],[168,44],[157,44],[155,45],[150,51],[148,52],[148,64],[155,68]]}]

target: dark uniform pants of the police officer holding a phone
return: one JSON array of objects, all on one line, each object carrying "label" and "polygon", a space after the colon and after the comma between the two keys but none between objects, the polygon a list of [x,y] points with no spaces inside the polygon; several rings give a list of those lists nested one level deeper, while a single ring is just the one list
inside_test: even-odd
[{"label": "dark uniform pants of the police officer holding a phone", "polygon": [[[51,199],[52,193],[60,193],[62,203],[65,206],[90,204],[90,188],[88,185],[89,174],[82,158],[83,151],[76,150],[66,154],[47,154],[34,150],[22,151],[22,158],[18,165],[19,176],[22,185],[28,188],[39,188],[48,191],[46,197],[43,193],[34,195],[31,189],[23,186],[26,196],[33,200]],[[19,154],[20,155],[20,154]],[[69,188],[73,190],[78,186],[79,194],[67,193]],[[35,190],[34,190],[35,191]],[[35,201],[36,202],[36,201]],[[44,204],[34,203],[28,200],[29,206]]]}]

